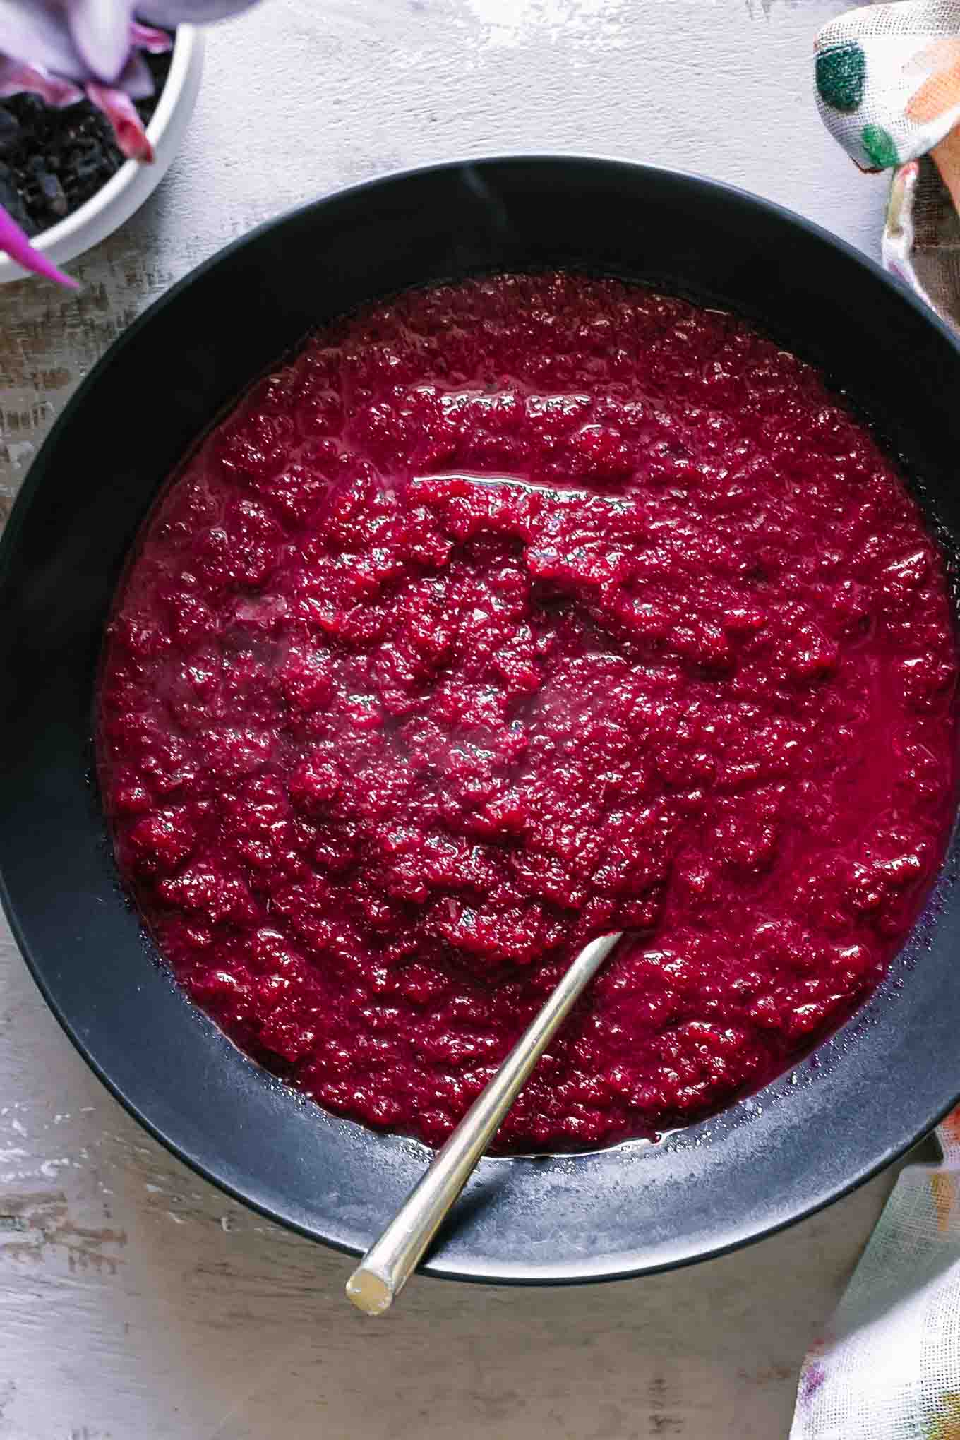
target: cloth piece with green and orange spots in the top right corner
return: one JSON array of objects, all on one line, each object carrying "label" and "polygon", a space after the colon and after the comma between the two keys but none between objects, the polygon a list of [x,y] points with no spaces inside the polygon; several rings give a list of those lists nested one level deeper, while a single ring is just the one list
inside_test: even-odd
[{"label": "cloth piece with green and orange spots in the top right corner", "polygon": [[823,122],[862,170],[892,170],[884,264],[960,330],[960,0],[898,0],[816,37]]}]

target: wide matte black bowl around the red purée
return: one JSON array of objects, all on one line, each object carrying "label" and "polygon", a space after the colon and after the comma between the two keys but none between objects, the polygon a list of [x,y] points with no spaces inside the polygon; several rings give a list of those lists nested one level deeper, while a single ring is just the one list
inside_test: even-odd
[{"label": "wide matte black bowl around the red pur\u00e9e", "polygon": [[[104,618],[157,488],[325,317],[407,285],[579,265],[757,318],[822,364],[960,536],[960,348],[823,230],[691,176],[533,157],[391,176],[230,245],[112,346],[37,456],[0,550],[0,867],[40,989],[118,1099],[265,1214],[363,1250],[420,1174],[409,1140],[304,1103],[173,988],[124,901],[91,778]],[[661,1146],[481,1164],[429,1264],[475,1280],[638,1274],[728,1250],[866,1179],[960,1094],[956,842],[888,981],[789,1079]]]}]

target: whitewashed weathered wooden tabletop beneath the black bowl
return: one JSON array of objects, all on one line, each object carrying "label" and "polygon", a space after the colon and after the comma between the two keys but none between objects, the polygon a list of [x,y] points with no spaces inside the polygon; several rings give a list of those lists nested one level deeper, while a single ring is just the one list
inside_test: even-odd
[{"label": "whitewashed weathered wooden tabletop beneath the black bowl", "polygon": [[[76,382],[171,281],[387,168],[629,156],[759,190],[875,253],[884,183],[833,147],[810,94],[813,35],[842,7],[265,0],[210,36],[184,150],[71,266],[82,292],[0,291],[0,507]],[[777,1440],[891,1179],[672,1276],[550,1292],[415,1280],[371,1322],[341,1299],[343,1257],[245,1212],[137,1129],[4,930],[0,1440]]]}]

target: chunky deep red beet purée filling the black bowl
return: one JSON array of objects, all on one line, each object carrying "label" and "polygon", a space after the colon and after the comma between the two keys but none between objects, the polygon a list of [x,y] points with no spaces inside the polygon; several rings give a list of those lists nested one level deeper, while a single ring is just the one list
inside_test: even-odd
[{"label": "chunky deep red beet pur\u00e9e filling the black bowl", "polygon": [[[417,478],[452,471],[589,494]],[[869,994],[943,855],[956,670],[938,552],[815,370],[501,276],[332,325],[189,461],[109,625],[101,780],[193,999],[429,1142],[573,950],[636,932],[499,1136],[576,1149],[717,1110]]]}]

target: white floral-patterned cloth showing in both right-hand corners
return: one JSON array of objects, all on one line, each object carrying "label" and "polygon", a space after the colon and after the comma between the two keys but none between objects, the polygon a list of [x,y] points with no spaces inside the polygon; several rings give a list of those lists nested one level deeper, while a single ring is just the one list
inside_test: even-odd
[{"label": "white floral-patterned cloth showing in both right-hand corners", "polygon": [[[851,10],[815,58],[830,132],[892,170],[884,264],[960,331],[960,0]],[[790,1440],[960,1440],[960,1107],[937,1138],[803,1362]]]}]

